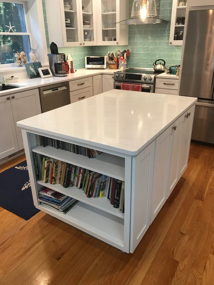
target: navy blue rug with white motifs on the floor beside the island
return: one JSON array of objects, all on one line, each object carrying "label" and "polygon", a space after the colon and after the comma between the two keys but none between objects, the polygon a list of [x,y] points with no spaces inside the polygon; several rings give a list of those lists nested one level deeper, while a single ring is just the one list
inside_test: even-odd
[{"label": "navy blue rug with white motifs on the floor beside the island", "polygon": [[0,206],[25,220],[39,212],[33,205],[26,160],[0,173]]}]

